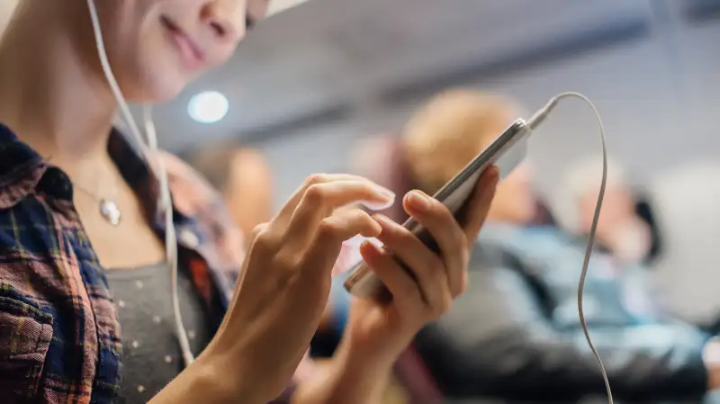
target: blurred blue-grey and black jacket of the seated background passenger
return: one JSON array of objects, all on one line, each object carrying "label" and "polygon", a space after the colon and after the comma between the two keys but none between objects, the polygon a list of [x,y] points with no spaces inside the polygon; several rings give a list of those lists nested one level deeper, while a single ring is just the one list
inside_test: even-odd
[{"label": "blurred blue-grey and black jacket of the seated background passenger", "polygon": [[[585,241],[486,226],[468,290],[417,347],[452,397],[567,402],[605,394],[577,313]],[[584,309],[618,400],[700,401],[708,336],[653,310],[644,269],[594,253]]]}]

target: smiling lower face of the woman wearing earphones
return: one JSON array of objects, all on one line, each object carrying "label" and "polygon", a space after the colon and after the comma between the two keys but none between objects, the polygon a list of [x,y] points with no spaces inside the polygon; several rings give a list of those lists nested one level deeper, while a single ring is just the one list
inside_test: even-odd
[{"label": "smiling lower face of the woman wearing earphones", "polygon": [[[89,22],[85,0],[76,20]],[[267,0],[94,0],[112,71],[133,102],[174,98],[185,85],[233,54],[246,21],[265,16]],[[89,26],[89,24],[83,24]],[[97,63],[92,33],[86,61]]]}]

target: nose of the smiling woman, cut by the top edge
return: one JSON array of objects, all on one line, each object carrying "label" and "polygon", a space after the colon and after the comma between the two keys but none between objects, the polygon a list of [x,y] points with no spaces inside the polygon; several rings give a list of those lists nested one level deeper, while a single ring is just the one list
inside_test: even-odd
[{"label": "nose of the smiling woman, cut by the top edge", "polygon": [[223,42],[235,42],[245,32],[244,2],[209,1],[202,6],[200,20],[214,38]]}]

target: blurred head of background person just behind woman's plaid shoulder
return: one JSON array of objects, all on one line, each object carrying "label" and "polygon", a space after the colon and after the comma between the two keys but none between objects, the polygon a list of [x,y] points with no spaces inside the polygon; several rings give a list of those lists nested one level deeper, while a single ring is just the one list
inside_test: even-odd
[{"label": "blurred head of background person just behind woman's plaid shoulder", "polygon": [[275,178],[261,151],[220,144],[195,151],[190,163],[222,192],[244,235],[272,218]]}]

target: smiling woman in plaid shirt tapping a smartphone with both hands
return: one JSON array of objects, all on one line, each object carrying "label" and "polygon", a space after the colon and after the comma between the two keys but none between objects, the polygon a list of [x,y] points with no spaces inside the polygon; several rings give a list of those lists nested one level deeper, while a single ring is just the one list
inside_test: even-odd
[{"label": "smiling woman in plaid shirt tapping a smartphone with both hands", "polygon": [[[260,0],[97,6],[114,76],[138,103],[170,99],[225,62],[247,22],[266,9]],[[284,400],[376,402],[394,358],[463,291],[468,240],[497,182],[497,170],[488,170],[464,228],[427,195],[405,195],[407,211],[443,247],[435,255],[389,220],[335,211],[357,201],[392,202],[391,193],[356,176],[314,175],[257,230],[244,255],[216,194],[176,159],[160,157],[175,201],[184,325],[198,355],[183,369],[168,327],[169,287],[157,275],[166,274],[157,264],[166,259],[157,178],[112,129],[117,103],[98,60],[88,4],[21,1],[0,46],[0,88],[4,402],[273,400],[317,327],[343,240],[358,233],[380,238],[418,282],[383,250],[363,245],[392,303],[355,301],[327,372],[299,380]]]}]

